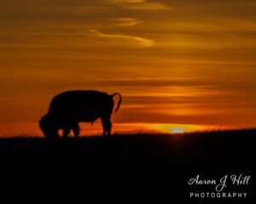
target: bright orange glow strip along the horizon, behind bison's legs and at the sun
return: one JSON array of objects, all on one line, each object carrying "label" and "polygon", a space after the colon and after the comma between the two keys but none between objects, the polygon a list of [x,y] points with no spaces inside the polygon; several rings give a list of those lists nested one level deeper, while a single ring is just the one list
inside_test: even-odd
[{"label": "bright orange glow strip along the horizon, behind bison's legs and at the sun", "polygon": [[[81,122],[81,133],[83,136],[102,135],[102,123],[97,121],[93,125]],[[168,124],[168,123],[113,123],[113,133],[133,134],[133,133],[189,133],[193,131],[206,131],[218,127],[188,125],[188,124]],[[0,122],[0,132],[2,137],[43,137],[43,133],[37,122]],[[73,135],[73,133],[72,133]]]}]

